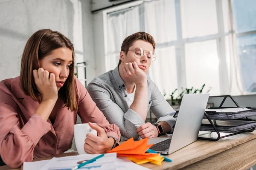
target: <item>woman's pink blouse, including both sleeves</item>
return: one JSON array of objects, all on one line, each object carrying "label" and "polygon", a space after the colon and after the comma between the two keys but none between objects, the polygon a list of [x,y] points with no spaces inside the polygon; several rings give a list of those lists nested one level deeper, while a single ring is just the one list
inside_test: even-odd
[{"label": "woman's pink blouse, including both sleeves", "polygon": [[109,124],[79,80],[76,79],[78,111],[71,112],[57,100],[58,111],[52,125],[49,119],[46,122],[34,114],[39,103],[23,93],[19,78],[0,82],[0,156],[9,167],[69,150],[77,114],[82,123],[97,123],[108,136],[120,140],[119,127]]}]

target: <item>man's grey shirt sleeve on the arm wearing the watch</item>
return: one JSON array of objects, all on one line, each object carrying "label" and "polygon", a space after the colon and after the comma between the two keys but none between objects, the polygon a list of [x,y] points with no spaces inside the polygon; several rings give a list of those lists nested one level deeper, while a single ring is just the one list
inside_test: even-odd
[{"label": "man's grey shirt sleeve on the arm wearing the watch", "polygon": [[[150,110],[157,117],[157,122],[167,122],[171,127],[175,125],[176,119],[173,116],[169,116],[169,113],[175,112],[171,105],[164,99],[157,85],[148,77],[150,89],[151,89],[151,107]],[[172,128],[173,131],[173,128]]]}]

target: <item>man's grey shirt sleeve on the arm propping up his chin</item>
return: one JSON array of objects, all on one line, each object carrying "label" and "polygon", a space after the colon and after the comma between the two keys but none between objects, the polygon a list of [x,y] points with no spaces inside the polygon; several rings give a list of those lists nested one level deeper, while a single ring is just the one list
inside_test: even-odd
[{"label": "man's grey shirt sleeve on the arm propping up his chin", "polygon": [[111,91],[99,82],[90,82],[87,90],[108,121],[119,127],[123,137],[127,139],[140,137],[136,129],[145,123],[140,115],[130,108],[126,112],[123,111],[111,99]]}]

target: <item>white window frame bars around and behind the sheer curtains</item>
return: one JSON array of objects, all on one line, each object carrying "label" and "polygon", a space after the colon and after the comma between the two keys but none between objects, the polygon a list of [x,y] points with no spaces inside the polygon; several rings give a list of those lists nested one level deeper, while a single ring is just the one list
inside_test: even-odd
[{"label": "white window frame bars around and behind the sheer curtains", "polygon": [[[110,8],[104,11],[100,11],[102,14],[102,20],[103,20],[103,27],[102,31],[104,32],[104,46],[102,47],[105,49],[104,53],[106,54],[106,40],[108,38],[107,35],[107,21],[108,21],[108,14],[112,13],[114,11],[124,10],[127,8],[131,8],[132,6],[138,6],[143,3],[142,0],[139,0],[137,2],[131,2],[124,4],[122,6]],[[145,2],[146,3],[146,2]],[[230,12],[231,8],[231,0],[228,0],[228,8],[229,8],[229,15],[230,18],[233,19],[232,11]],[[181,7],[180,7],[180,0],[175,0],[175,19],[176,19],[176,30],[177,30],[177,40],[169,41],[169,42],[163,42],[163,43],[157,43],[156,48],[166,48],[175,46],[175,57],[176,57],[176,65],[177,65],[177,86],[178,86],[178,92],[180,93],[182,91],[182,88],[186,88],[186,65],[185,65],[185,44],[186,43],[193,43],[193,42],[204,42],[208,40],[216,40],[216,46],[217,46],[217,54],[218,58],[221,61],[220,63],[227,62],[227,56],[226,56],[226,44],[225,44],[225,37],[229,36],[230,34],[234,34],[233,27],[229,31],[225,32],[224,28],[224,16],[223,16],[223,6],[222,1],[215,0],[215,9],[216,9],[216,15],[217,15],[217,24],[218,24],[218,33],[217,34],[209,34],[202,37],[191,37],[191,38],[183,38],[182,36],[182,24],[181,24]],[[96,21],[97,22],[97,21]],[[245,34],[256,34],[256,31],[250,31],[252,33],[240,33],[235,34],[236,36],[243,36]],[[99,45],[98,45],[99,46]],[[99,47],[101,48],[101,47]],[[98,49],[98,48],[97,48]],[[103,62],[105,64],[105,58],[104,55]],[[230,56],[231,59],[231,56]],[[102,63],[103,64],[103,63]],[[223,69],[224,68],[224,69]],[[226,68],[226,69],[225,69]],[[96,68],[97,69],[97,68]],[[103,71],[104,70],[104,71]],[[106,68],[101,68],[99,71],[97,71],[97,74],[103,74],[106,72]],[[222,94],[230,94],[231,91],[231,77],[229,76],[229,71],[227,70],[227,65],[221,67],[219,65],[219,86],[220,86],[220,95]],[[229,85],[230,91],[225,91],[224,87],[225,84]],[[242,94],[242,92],[241,92]],[[237,95],[241,95],[237,94]],[[250,93],[253,94],[253,93]]]}]

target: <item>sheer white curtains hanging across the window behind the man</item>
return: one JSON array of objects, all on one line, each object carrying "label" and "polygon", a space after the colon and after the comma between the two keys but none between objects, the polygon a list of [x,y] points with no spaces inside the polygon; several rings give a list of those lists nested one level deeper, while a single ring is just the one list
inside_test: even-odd
[{"label": "sheer white curtains hanging across the window behind the man", "polygon": [[[228,0],[217,2],[221,2],[224,23],[220,36],[220,4],[216,2],[152,0],[120,14],[109,14],[107,71],[116,67],[125,37],[145,31],[157,42],[157,59],[148,74],[166,98],[176,88],[201,88],[203,84],[212,88],[211,95],[242,94],[232,11]],[[177,6],[180,12],[175,11]],[[225,51],[221,51],[220,40],[225,42]],[[186,87],[178,87],[181,79],[186,80]]]}]

